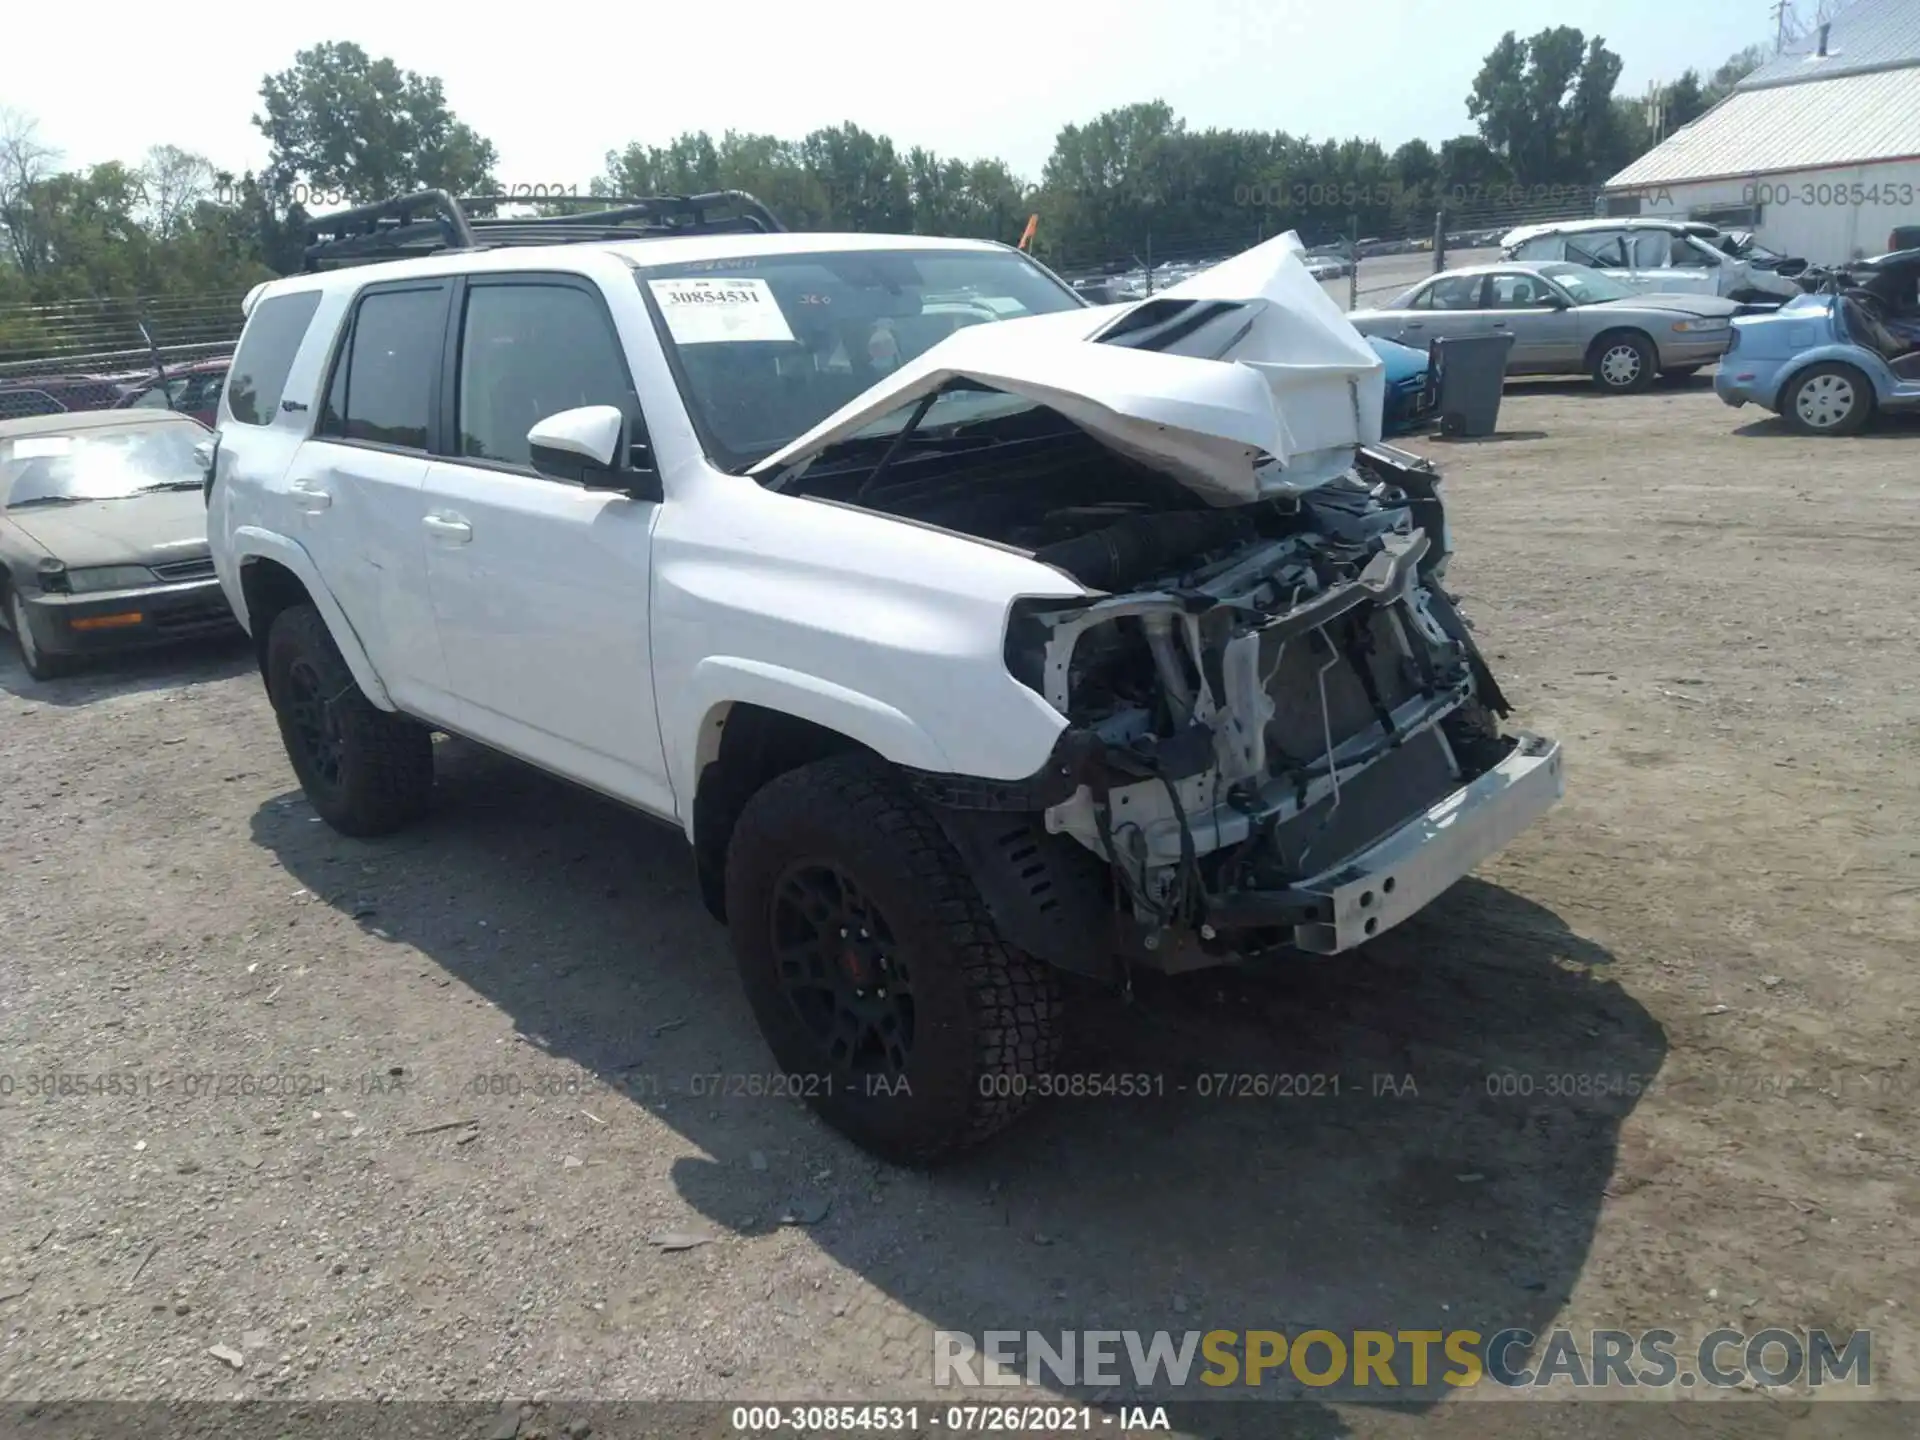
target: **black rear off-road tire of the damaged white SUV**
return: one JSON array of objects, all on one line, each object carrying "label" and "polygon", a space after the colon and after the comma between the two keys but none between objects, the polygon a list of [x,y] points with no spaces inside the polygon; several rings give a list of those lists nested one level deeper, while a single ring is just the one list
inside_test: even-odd
[{"label": "black rear off-road tire of the damaged white SUV", "polygon": [[[294,716],[296,670],[319,682],[338,732],[338,776],[326,776]],[[267,632],[267,697],[286,758],[307,801],[342,835],[390,835],[426,812],[434,789],[434,737],[424,726],[378,708],[311,605],[275,616]]]}]

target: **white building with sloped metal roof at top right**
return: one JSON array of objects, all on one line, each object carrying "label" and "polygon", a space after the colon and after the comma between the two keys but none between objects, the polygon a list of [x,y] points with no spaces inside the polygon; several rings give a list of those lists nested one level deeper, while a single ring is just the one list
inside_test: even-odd
[{"label": "white building with sloped metal roof at top right", "polygon": [[1605,188],[1611,215],[1753,228],[1816,265],[1893,248],[1920,225],[1920,0],[1855,0]]}]

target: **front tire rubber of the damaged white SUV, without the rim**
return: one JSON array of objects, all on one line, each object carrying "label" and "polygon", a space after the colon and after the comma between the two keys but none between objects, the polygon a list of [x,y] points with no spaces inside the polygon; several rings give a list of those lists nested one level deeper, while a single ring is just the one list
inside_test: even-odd
[{"label": "front tire rubber of the damaged white SUV, without the rim", "polygon": [[[774,954],[776,893],[810,864],[852,877],[885,916],[914,996],[908,1092],[831,1069]],[[726,910],[747,1000],[789,1091],[851,1140],[927,1165],[1012,1123],[1060,1054],[1060,985],[995,931],[939,824],[877,758],[789,770],[747,803],[728,843]]]}]

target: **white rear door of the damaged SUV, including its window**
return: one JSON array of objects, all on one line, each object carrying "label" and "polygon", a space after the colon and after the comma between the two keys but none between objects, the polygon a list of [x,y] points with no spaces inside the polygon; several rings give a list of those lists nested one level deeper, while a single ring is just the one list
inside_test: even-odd
[{"label": "white rear door of the damaged SUV, including its window", "polygon": [[403,708],[442,720],[445,666],[426,593],[420,516],[440,403],[445,278],[359,292],[334,346],[313,438],[280,482],[290,538]]}]

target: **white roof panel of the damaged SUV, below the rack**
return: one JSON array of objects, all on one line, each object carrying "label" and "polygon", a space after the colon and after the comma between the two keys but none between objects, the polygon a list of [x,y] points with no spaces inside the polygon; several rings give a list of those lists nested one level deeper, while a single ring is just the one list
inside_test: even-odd
[{"label": "white roof panel of the damaged SUV, below the rack", "polygon": [[[845,250],[1006,250],[996,240],[954,240],[931,234],[835,234],[816,230],[776,230],[772,234],[689,234],[636,240],[580,240],[564,246],[503,246],[497,250],[440,250],[415,259],[371,261],[336,271],[288,275],[269,280],[259,294],[288,290],[359,290],[374,280],[411,275],[484,275],[493,271],[564,269],[568,255],[612,255],[636,271],[651,265],[685,265],[749,255],[808,255]],[[255,296],[250,296],[248,309]]]}]

